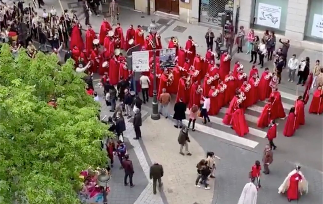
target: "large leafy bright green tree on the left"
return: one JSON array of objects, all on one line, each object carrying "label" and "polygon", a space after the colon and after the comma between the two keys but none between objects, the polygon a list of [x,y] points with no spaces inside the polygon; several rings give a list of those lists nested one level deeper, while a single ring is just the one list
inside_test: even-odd
[{"label": "large leafy bright green tree on the left", "polygon": [[[79,203],[78,174],[103,166],[100,138],[111,136],[73,61],[0,54],[0,203]],[[57,108],[47,105],[55,97]]]}]

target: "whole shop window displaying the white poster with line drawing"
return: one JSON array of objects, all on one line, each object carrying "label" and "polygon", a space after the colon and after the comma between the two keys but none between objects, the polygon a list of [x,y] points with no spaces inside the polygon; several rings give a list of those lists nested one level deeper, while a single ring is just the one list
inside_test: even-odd
[{"label": "whole shop window displaying the white poster with line drawing", "polygon": [[285,34],[288,0],[254,0],[251,28]]}]

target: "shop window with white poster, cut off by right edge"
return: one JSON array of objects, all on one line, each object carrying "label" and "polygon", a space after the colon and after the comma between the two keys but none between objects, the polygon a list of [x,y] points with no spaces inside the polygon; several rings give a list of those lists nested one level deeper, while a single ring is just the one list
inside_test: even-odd
[{"label": "shop window with white poster, cut off by right edge", "polygon": [[304,31],[304,40],[323,43],[323,2],[309,0]]}]

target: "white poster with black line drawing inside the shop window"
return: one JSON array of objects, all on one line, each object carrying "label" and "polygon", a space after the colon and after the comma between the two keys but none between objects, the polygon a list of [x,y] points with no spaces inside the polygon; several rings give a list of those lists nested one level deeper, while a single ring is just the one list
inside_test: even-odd
[{"label": "white poster with black line drawing inside the shop window", "polygon": [[257,25],[279,29],[282,7],[259,3]]}]

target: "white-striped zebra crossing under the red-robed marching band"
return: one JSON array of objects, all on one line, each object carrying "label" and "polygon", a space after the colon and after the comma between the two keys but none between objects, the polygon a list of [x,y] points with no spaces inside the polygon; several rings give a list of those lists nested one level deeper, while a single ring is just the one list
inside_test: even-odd
[{"label": "white-striped zebra crossing under the red-robed marching band", "polygon": [[[286,115],[288,115],[289,109],[294,106],[294,102],[297,99],[297,96],[289,93],[281,92],[281,91],[280,91],[280,94],[282,98],[282,104],[285,109],[285,113]],[[222,119],[225,115],[226,110],[228,109],[227,107],[222,107],[218,115],[209,116],[211,120],[210,123],[220,125],[222,127],[221,130],[211,127],[214,125],[208,125],[208,124],[203,125],[199,123],[195,123],[195,130],[205,134],[213,135],[214,137],[232,142],[234,144],[238,144],[238,145],[245,146],[247,148],[254,149],[259,144],[259,142],[261,142],[261,140],[267,140],[266,139],[267,130],[260,129],[257,127],[257,120],[264,106],[265,106],[265,102],[261,101],[246,109],[245,119],[247,120],[247,123],[249,126],[249,133],[244,137],[237,136],[231,130],[229,125],[225,125],[222,123]],[[190,111],[187,109],[186,114],[189,115],[189,113]],[[283,122],[284,119],[278,119],[277,125],[279,123],[284,124],[285,123]],[[183,124],[187,125],[188,120],[184,120]]]}]

